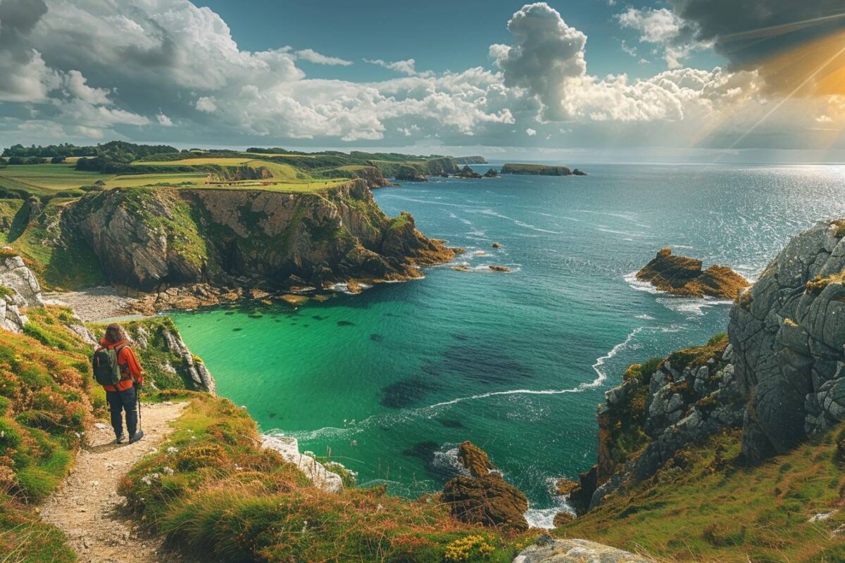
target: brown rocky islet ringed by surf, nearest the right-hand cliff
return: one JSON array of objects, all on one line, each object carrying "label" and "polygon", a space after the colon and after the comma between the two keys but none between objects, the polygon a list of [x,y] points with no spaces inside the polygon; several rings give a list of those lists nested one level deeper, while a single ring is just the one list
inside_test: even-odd
[{"label": "brown rocky islet ringed by surf, nearest the right-hand cliff", "polygon": [[675,256],[671,248],[663,248],[657,256],[636,273],[636,279],[648,282],[657,290],[685,297],[717,297],[736,299],[750,282],[726,266],[713,264],[701,269],[701,260]]}]

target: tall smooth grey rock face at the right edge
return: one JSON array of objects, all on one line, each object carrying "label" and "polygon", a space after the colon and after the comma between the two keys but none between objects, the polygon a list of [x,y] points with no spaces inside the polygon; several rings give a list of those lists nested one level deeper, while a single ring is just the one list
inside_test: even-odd
[{"label": "tall smooth grey rock face at the right edge", "polygon": [[845,221],[789,241],[728,327],[748,401],[743,452],[786,452],[845,418]]}]

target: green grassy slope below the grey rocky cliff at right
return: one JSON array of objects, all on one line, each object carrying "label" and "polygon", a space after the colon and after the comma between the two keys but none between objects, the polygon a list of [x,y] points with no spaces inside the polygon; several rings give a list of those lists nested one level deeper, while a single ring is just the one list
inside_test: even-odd
[{"label": "green grassy slope below the grey rocky cliff at right", "polygon": [[[658,560],[716,563],[804,563],[845,560],[845,542],[831,536],[845,524],[845,485],[836,441],[845,431],[774,457],[759,467],[739,460],[739,430],[678,452],[630,495],[555,531]],[[809,522],[815,514],[836,512]]]}]

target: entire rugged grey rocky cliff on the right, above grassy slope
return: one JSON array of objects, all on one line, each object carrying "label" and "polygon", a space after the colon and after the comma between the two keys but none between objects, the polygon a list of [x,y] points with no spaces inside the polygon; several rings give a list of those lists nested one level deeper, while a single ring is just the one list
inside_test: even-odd
[{"label": "entire rugged grey rocky cliff on the right, above grassy slope", "polygon": [[598,409],[598,463],[575,504],[597,506],[721,430],[741,428],[755,463],[845,419],[843,279],[845,220],[817,225],[739,291],[727,336],[632,365]]}]

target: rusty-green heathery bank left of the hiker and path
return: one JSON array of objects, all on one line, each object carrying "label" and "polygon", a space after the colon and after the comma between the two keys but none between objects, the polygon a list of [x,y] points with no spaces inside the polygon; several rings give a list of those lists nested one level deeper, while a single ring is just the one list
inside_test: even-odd
[{"label": "rusty-green heathery bank left of the hiker and path", "polygon": [[4,562],[76,560],[64,534],[35,507],[74,462],[105,394],[89,374],[85,344],[66,328],[69,311],[30,308],[30,333],[0,331],[0,557]]}]

